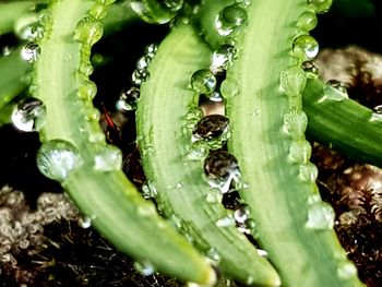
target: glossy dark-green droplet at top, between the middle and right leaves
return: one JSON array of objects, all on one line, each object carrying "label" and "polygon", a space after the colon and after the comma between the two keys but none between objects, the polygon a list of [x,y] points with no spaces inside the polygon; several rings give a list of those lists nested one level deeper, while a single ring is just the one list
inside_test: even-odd
[{"label": "glossy dark-green droplet at top, between the middle and right leaves", "polygon": [[237,32],[240,26],[244,26],[248,22],[246,9],[240,4],[225,7],[215,21],[215,28],[220,36],[229,36],[232,32]]}]

